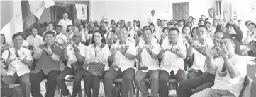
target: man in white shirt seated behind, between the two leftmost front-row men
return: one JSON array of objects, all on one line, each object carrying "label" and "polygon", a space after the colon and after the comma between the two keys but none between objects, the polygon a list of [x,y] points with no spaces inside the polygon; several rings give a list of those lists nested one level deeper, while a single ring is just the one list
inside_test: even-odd
[{"label": "man in white shirt seated behind, between the two leftmost front-row men", "polygon": [[38,30],[36,28],[32,28],[32,34],[27,37],[26,41],[28,41],[30,50],[44,44],[43,37],[38,35]]}]

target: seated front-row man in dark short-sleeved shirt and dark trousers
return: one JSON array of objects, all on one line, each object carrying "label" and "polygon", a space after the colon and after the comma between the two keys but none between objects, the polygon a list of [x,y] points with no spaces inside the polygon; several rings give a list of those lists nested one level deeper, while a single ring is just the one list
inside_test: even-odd
[{"label": "seated front-row man in dark short-sleeved shirt and dark trousers", "polygon": [[34,48],[33,58],[36,61],[35,70],[31,71],[31,93],[33,97],[43,97],[40,93],[40,83],[47,79],[46,97],[54,97],[56,89],[56,77],[60,72],[62,48],[55,44],[55,32],[45,33],[45,44]]}]

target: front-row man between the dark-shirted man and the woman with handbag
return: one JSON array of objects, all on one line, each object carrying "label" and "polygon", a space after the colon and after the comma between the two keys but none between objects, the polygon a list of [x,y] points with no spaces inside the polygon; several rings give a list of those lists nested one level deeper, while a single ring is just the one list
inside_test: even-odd
[{"label": "front-row man between the dark-shirted man and the woman with handbag", "polygon": [[67,97],[71,97],[71,95],[65,84],[65,77],[67,75],[74,75],[72,96],[76,96],[83,78],[82,64],[85,58],[85,51],[87,50],[87,46],[81,44],[82,34],[79,31],[74,32],[72,39],[73,40],[67,47],[63,47],[63,52],[65,54],[62,57],[67,59],[67,66],[65,67],[65,70],[60,72],[56,77],[57,86],[62,90],[62,95]]}]

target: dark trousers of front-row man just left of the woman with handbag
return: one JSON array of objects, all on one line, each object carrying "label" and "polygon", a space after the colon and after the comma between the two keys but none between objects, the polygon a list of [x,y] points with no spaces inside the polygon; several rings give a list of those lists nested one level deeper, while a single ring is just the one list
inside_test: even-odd
[{"label": "dark trousers of front-row man just left of the woman with handbag", "polygon": [[67,89],[67,85],[65,84],[66,75],[74,75],[72,96],[77,96],[77,93],[81,91],[81,80],[83,78],[83,70],[80,69],[74,71],[72,68],[65,67],[65,69],[61,71],[59,75],[57,75],[57,86],[61,89],[63,96],[67,96],[70,94],[69,90]]}]

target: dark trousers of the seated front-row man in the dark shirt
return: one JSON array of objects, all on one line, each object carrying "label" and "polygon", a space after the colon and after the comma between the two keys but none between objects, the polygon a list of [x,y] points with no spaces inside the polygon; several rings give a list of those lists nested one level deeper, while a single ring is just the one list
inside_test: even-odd
[{"label": "dark trousers of the seated front-row man in the dark shirt", "polygon": [[46,89],[46,97],[54,97],[55,95],[55,89],[56,89],[56,77],[59,74],[60,71],[58,70],[52,70],[48,73],[48,75],[45,75],[43,70],[37,73],[31,73],[30,75],[30,83],[31,83],[31,93],[33,97],[43,97],[40,93],[40,83],[43,79],[47,79],[47,89]]}]

